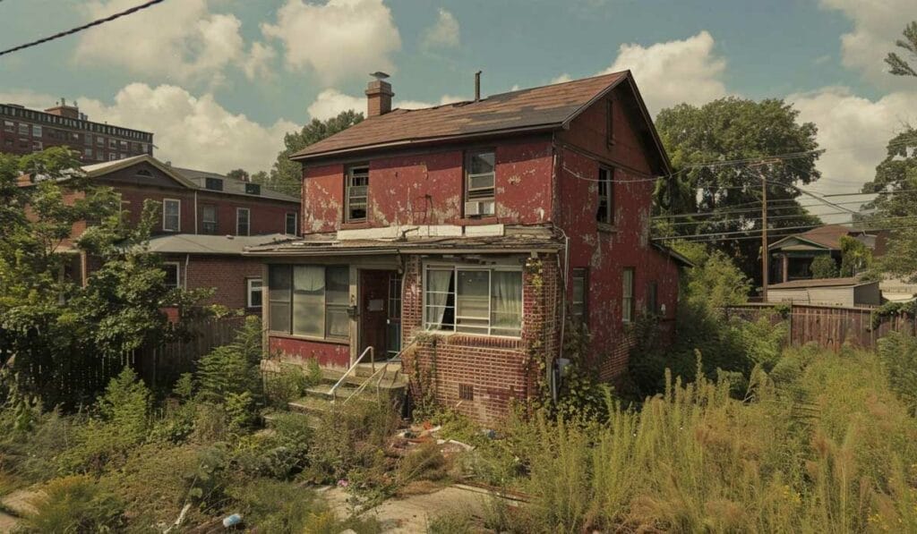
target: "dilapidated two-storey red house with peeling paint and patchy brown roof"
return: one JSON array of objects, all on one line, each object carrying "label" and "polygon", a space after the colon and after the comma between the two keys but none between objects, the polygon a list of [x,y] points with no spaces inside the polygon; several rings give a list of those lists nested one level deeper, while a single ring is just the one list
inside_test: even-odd
[{"label": "dilapidated two-storey red house with peeling paint and patchy brown roof", "polygon": [[365,121],[293,155],[303,238],[246,253],[269,264],[271,351],[347,367],[372,346],[484,422],[536,394],[567,321],[603,379],[638,314],[670,329],[684,260],[649,239],[670,170],[629,71],[421,110],[367,95]]}]

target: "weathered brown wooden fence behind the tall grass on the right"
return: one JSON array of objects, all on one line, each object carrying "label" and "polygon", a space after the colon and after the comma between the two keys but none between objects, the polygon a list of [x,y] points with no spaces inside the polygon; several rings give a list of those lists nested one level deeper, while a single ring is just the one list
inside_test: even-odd
[{"label": "weathered brown wooden fence behind the tall grass on the right", "polygon": [[[778,310],[785,313],[778,313]],[[834,351],[844,343],[874,349],[878,340],[889,332],[917,333],[917,316],[911,313],[883,317],[873,328],[875,310],[815,304],[745,304],[727,307],[726,315],[748,321],[755,321],[762,315],[774,322],[786,319],[790,324],[791,345],[818,343]]]}]

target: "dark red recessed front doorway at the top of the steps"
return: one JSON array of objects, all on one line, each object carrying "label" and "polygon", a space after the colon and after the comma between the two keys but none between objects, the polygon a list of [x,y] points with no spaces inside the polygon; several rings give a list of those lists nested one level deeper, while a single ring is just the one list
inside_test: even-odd
[{"label": "dark red recessed front doorway at the top of the steps", "polygon": [[359,354],[371,346],[376,361],[388,357],[389,280],[393,274],[376,269],[359,271]]}]

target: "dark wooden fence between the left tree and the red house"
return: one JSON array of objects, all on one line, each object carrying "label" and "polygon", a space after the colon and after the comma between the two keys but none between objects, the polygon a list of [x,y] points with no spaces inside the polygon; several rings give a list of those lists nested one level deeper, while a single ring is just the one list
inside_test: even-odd
[{"label": "dark wooden fence between the left tree and the red house", "polygon": [[[149,387],[168,386],[183,373],[193,372],[197,360],[215,347],[232,343],[245,317],[201,317],[185,320],[184,340],[143,347],[131,355],[131,363]],[[174,327],[173,327],[174,328]]]}]

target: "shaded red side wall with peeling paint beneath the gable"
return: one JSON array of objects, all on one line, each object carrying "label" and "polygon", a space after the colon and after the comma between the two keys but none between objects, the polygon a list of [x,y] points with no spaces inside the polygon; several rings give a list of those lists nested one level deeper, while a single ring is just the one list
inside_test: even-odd
[{"label": "shaded red side wall with peeling paint beneath the gable", "polygon": [[[664,322],[675,319],[679,272],[676,264],[649,241],[654,181],[641,146],[616,95],[614,143],[606,142],[605,104],[593,104],[568,131],[558,134],[558,225],[569,236],[570,268],[587,268],[589,326],[592,346],[609,376],[620,376],[627,364],[623,321],[623,272],[635,268],[635,310],[646,308],[650,284],[657,284],[657,303]],[[596,222],[600,166],[612,167],[614,223]],[[570,287],[568,290],[571,290]],[[569,293],[568,293],[569,294]],[[669,326],[666,326],[669,329]],[[605,363],[609,361],[609,363]]]}]

